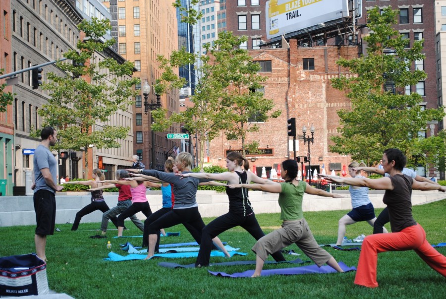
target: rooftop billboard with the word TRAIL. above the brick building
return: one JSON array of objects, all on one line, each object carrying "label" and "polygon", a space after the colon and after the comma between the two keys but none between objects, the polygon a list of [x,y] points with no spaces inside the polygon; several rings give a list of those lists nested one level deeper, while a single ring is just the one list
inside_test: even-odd
[{"label": "rooftop billboard with the word TRAIL. above the brick building", "polygon": [[349,16],[348,0],[269,0],[267,38]]}]

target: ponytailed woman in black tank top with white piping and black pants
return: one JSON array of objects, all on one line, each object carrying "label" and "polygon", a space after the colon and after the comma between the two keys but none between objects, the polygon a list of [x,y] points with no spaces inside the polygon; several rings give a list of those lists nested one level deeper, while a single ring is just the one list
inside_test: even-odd
[{"label": "ponytailed woman in black tank top with white piping and black pants", "polygon": [[[226,167],[228,172],[221,174],[187,173],[178,175],[185,178],[225,180],[228,184],[249,183],[251,181],[263,184],[274,183],[268,179],[261,179],[252,172],[248,172],[249,162],[238,152],[230,152],[227,154]],[[209,265],[212,239],[228,229],[240,226],[256,240],[265,236],[249,202],[248,189],[229,188],[226,186],[226,194],[229,198],[229,212],[216,218],[203,228],[200,251],[195,262],[196,267]],[[272,256],[276,261],[285,261],[285,258],[280,252],[275,252]]]}]

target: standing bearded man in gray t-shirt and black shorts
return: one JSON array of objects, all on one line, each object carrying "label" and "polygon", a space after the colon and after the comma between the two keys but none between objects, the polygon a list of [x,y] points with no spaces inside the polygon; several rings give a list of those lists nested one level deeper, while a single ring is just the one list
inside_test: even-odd
[{"label": "standing bearded man in gray t-shirt and black shorts", "polygon": [[36,212],[36,243],[37,256],[47,260],[45,248],[47,236],[54,234],[56,222],[56,191],[63,186],[56,185],[57,160],[50,151],[50,146],[57,142],[57,132],[51,126],[42,129],[41,144],[34,151],[33,185],[34,210]]}]

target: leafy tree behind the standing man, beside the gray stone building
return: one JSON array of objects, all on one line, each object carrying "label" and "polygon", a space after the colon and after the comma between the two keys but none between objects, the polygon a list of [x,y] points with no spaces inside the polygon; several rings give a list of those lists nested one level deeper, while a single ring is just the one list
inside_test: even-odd
[{"label": "leafy tree behind the standing man, beside the gray stone building", "polygon": [[105,52],[114,43],[114,40],[101,40],[111,29],[109,20],[83,20],[79,29],[86,39],[78,41],[78,51],[65,53],[74,63],[56,63],[64,75],[48,73],[49,82],[42,88],[50,91],[50,97],[39,115],[44,125],[57,128],[57,148],[83,151],[87,176],[88,148],[119,147],[117,140],[125,138],[129,130],[129,127],[111,125],[98,129],[95,124],[105,123],[116,111],[125,109],[135,95],[133,86],[140,81],[129,79],[134,68],[129,61],[120,64],[112,58],[95,60],[96,53]]}]

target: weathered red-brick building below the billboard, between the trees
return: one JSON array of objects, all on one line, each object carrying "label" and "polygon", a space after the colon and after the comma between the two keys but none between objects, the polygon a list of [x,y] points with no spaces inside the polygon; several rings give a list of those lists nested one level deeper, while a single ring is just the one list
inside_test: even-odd
[{"label": "weathered red-brick building below the billboard, between the trees", "polygon": [[[291,40],[289,49],[262,49],[250,51],[253,60],[259,61],[263,75],[265,97],[274,99],[276,108],[282,111],[278,119],[257,123],[260,131],[249,133],[248,142],[258,141],[259,148],[265,149],[265,155],[248,155],[248,160],[259,170],[267,170],[288,157],[293,157],[292,140],[287,135],[287,119],[296,118],[296,156],[307,156],[308,145],[302,140],[302,126],[315,126],[314,144],[310,144],[312,169],[326,172],[340,172],[341,166],[350,162],[350,157],[330,152],[330,137],[337,134],[338,109],[348,109],[350,101],[343,92],[330,85],[330,79],[339,74],[348,75],[348,71],[335,63],[341,56],[346,59],[357,57],[355,46],[328,46],[298,48],[297,40]],[[314,65],[314,67],[313,67]],[[227,140],[224,134],[210,143],[210,161],[224,166],[227,150],[241,148],[240,140]],[[268,149],[268,150],[266,150]],[[331,167],[330,167],[331,166]],[[299,166],[300,167],[300,166]]]}]

